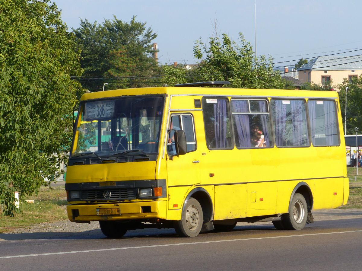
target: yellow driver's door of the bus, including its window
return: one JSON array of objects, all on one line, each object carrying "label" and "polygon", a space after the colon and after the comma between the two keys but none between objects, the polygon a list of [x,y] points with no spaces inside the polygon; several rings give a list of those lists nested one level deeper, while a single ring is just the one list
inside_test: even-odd
[{"label": "yellow driver's door of the bus, including its window", "polygon": [[[200,183],[199,167],[201,151],[197,150],[195,136],[195,117],[191,113],[171,113],[168,121],[170,132],[167,139],[167,176],[169,187],[169,209],[180,209],[187,191]],[[196,118],[197,119],[197,118]],[[187,153],[176,155],[174,144],[175,130],[183,130],[186,135]]]}]

